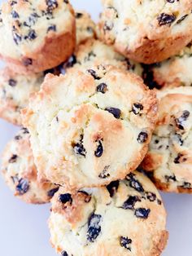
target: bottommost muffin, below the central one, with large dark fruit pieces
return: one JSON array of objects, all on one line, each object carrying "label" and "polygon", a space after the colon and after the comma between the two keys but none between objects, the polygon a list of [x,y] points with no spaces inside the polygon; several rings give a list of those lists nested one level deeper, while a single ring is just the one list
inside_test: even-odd
[{"label": "bottommost muffin, below the central one, with large dark fruit pieces", "polygon": [[137,172],[107,188],[60,188],[52,199],[51,243],[63,256],[158,256],[164,249],[164,205]]}]

